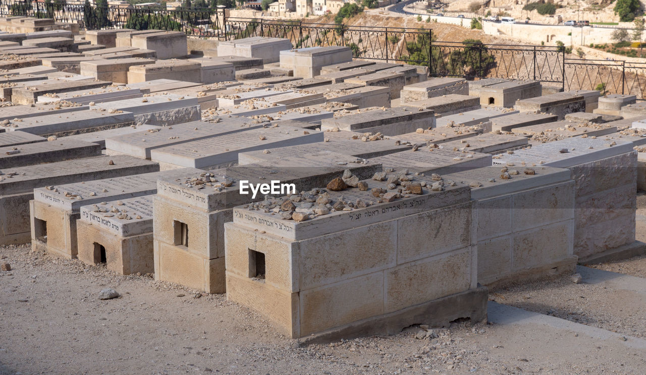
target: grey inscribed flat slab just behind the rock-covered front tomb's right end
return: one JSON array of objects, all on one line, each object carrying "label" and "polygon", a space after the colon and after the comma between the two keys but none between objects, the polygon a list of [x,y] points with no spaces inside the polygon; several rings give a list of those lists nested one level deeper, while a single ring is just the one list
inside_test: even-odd
[{"label": "grey inscribed flat slab just behind the rock-covered front tomb's right end", "polygon": [[472,163],[477,163],[477,161],[482,161],[485,165],[490,164],[491,156],[478,152],[461,152],[440,148],[433,148],[433,151],[430,151],[426,148],[419,148],[417,151],[395,152],[386,156],[373,157],[369,160],[373,163],[381,163],[384,169],[409,169],[410,172],[426,173],[440,168],[455,168],[455,171],[458,171],[462,170],[464,165],[471,165]]}]

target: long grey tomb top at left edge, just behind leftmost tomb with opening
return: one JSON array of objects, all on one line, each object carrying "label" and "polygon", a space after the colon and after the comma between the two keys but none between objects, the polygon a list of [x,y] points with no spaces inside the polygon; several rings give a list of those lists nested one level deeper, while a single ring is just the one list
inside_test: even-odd
[{"label": "long grey tomb top at left edge, just behind leftmost tomb with opening", "polygon": [[[110,160],[113,164],[109,163]],[[68,183],[85,178],[92,179],[101,176],[101,174],[114,176],[115,174],[127,174],[121,171],[134,173],[154,170],[159,170],[156,163],[132,156],[97,156],[26,167],[4,168],[0,170],[5,175],[0,176],[0,194],[31,192],[35,187]]]}]

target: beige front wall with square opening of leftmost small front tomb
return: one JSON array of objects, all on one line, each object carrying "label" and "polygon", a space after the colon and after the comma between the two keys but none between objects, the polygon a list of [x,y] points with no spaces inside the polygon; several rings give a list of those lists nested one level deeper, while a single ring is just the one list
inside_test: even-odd
[{"label": "beige front wall with square opening of leftmost small front tomb", "polygon": [[[79,214],[70,214],[60,208],[52,207],[47,203],[30,201],[32,247],[47,248],[50,254],[75,259],[78,253],[76,246],[76,219]],[[47,243],[37,236],[36,220],[47,222]]]}]

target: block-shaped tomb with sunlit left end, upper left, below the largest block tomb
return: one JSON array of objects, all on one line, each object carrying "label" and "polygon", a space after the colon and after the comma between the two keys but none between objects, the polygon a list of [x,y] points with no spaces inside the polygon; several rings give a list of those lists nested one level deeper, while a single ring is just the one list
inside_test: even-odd
[{"label": "block-shaped tomb with sunlit left end, upper left, below the largest block tomb", "polygon": [[139,83],[154,79],[178,79],[201,83],[202,65],[193,61],[172,59],[131,66],[128,71],[128,83]]}]

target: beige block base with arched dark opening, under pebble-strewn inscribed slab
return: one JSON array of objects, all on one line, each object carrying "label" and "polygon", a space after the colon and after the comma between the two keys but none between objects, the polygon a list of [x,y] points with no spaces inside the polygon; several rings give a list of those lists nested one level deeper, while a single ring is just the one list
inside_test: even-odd
[{"label": "beige block base with arched dark opening, under pebble-strewn inscribed slab", "polygon": [[153,273],[152,233],[121,238],[116,234],[85,221],[76,221],[78,258],[94,265],[94,243],[105,247],[107,269],[122,275]]}]

